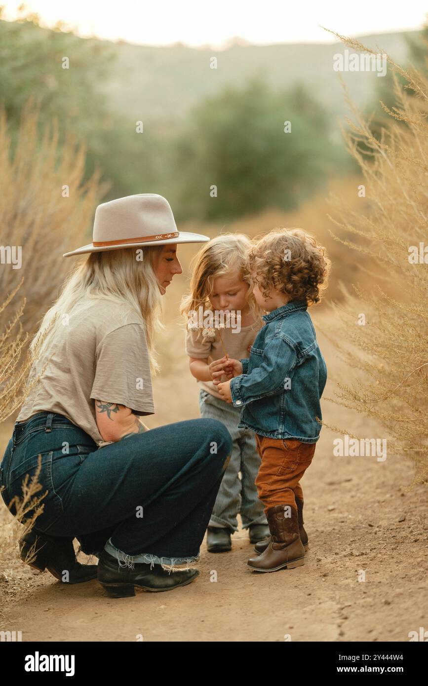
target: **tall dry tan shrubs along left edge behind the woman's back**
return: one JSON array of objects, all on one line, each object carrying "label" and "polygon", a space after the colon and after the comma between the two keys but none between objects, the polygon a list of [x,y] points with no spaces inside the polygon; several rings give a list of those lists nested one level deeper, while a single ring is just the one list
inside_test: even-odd
[{"label": "tall dry tan shrubs along left edge behind the woman's back", "polygon": [[[95,206],[108,188],[99,183],[99,170],[83,181],[84,145],[76,145],[70,132],[64,140],[59,138],[58,123],[43,126],[41,104],[35,106],[31,98],[22,110],[12,150],[5,110],[0,110],[0,423],[14,414],[38,380],[26,383],[47,331],[39,335],[32,353],[27,348],[29,336],[71,266],[62,262],[62,253],[90,237]],[[66,186],[69,193],[64,193]],[[8,263],[11,246],[21,246],[18,269]],[[10,314],[18,292],[23,300]],[[0,595],[7,594],[13,570],[22,565],[16,563],[17,541],[43,511],[41,489],[38,471],[32,479],[25,477],[22,495],[15,498],[14,519],[0,503]]]}]

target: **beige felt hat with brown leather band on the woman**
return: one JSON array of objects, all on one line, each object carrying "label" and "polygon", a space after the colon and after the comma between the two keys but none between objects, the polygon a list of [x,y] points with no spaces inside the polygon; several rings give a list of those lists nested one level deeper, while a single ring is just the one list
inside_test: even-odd
[{"label": "beige felt hat with brown leather band on the woman", "polygon": [[139,193],[98,205],[92,243],[65,252],[62,257],[83,255],[84,252],[206,241],[209,237],[200,233],[178,231],[166,198],[157,193]]}]

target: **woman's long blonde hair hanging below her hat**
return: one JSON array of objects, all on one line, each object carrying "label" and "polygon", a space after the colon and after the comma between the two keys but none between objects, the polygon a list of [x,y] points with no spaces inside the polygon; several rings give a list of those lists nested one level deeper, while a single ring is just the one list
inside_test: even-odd
[{"label": "woman's long blonde hair hanging below her hat", "polygon": [[[143,248],[141,261],[136,260],[135,248],[91,252],[84,261],[75,265],[62,285],[60,296],[48,309],[34,335],[30,345],[31,352],[36,350],[39,335],[51,324],[43,344],[37,350],[36,359],[42,353],[48,354],[55,345],[56,333],[62,327],[62,315],[69,314],[73,306],[84,297],[88,300],[102,298],[112,303],[128,305],[141,318],[149,351],[150,370],[155,375],[159,365],[154,338],[156,331],[165,328],[160,321],[161,295],[154,270],[162,248],[163,246]],[[123,315],[125,314],[124,311]]]}]

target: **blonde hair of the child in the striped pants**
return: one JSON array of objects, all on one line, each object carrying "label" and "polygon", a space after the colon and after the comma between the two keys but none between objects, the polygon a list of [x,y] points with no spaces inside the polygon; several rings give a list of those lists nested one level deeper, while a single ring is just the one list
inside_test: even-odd
[{"label": "blonde hair of the child in the striped pants", "polygon": [[257,305],[252,294],[252,281],[248,269],[248,252],[252,243],[243,233],[222,233],[205,243],[190,263],[190,292],[183,296],[180,314],[188,318],[191,311],[202,305],[213,311],[209,296],[213,293],[213,284],[217,276],[237,274],[241,281],[248,283],[246,301],[254,318],[260,318],[264,311]]}]

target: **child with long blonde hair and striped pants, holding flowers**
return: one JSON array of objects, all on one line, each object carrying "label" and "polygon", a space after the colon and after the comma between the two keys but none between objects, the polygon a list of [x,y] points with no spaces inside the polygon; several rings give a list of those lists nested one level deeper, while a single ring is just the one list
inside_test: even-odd
[{"label": "child with long blonde hair and striped pants, holding flowers", "polygon": [[254,484],[260,466],[254,433],[238,427],[241,409],[225,403],[213,384],[215,378],[232,376],[231,372],[224,374],[219,357],[225,353],[248,357],[250,344],[263,326],[263,310],[250,287],[250,247],[250,239],[242,234],[223,234],[206,243],[193,259],[190,294],[181,306],[187,318],[186,353],[191,374],[202,386],[201,415],[222,421],[233,440],[230,462],[207,529],[209,552],[231,549],[230,534],[237,531],[238,512],[243,528],[249,529],[250,543],[269,535]]}]

